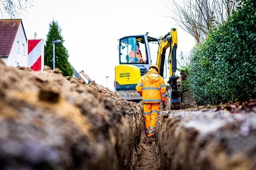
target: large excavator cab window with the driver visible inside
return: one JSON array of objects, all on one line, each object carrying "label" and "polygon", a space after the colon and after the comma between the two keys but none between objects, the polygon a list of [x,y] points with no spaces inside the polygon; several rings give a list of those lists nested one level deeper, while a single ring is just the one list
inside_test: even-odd
[{"label": "large excavator cab window with the driver visible inside", "polygon": [[125,37],[120,40],[120,64],[148,64],[144,37]]}]

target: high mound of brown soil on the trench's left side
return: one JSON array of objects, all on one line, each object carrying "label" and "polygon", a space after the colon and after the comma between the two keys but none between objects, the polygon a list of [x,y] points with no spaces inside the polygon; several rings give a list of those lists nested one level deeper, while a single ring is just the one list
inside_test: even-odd
[{"label": "high mound of brown soil on the trench's left side", "polygon": [[142,105],[95,82],[0,60],[1,169],[129,169]]}]

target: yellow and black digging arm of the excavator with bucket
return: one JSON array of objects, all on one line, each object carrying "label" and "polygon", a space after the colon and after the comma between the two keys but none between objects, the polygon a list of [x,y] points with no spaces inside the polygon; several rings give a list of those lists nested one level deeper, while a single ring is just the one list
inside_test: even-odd
[{"label": "yellow and black digging arm of the excavator with bucket", "polygon": [[178,47],[178,37],[176,28],[172,28],[171,32],[160,37],[160,45],[158,48],[157,62],[159,68],[159,74],[163,76],[164,74],[164,61],[166,58],[166,50],[170,48],[170,53],[168,55],[168,68],[169,68],[169,80],[167,81],[169,86],[167,86],[167,108],[170,109],[180,109],[180,90],[178,88],[177,80],[178,76],[175,75],[177,68],[176,50]]}]

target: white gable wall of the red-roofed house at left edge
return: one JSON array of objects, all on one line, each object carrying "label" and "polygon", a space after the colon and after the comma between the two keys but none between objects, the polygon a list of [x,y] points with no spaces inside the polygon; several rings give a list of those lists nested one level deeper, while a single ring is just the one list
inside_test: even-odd
[{"label": "white gable wall of the red-roofed house at left edge", "polygon": [[[19,43],[18,43],[19,41]],[[19,47],[18,47],[19,45]],[[28,47],[22,24],[20,23],[17,35],[14,39],[10,55],[8,57],[8,66],[25,66],[28,67]]]}]

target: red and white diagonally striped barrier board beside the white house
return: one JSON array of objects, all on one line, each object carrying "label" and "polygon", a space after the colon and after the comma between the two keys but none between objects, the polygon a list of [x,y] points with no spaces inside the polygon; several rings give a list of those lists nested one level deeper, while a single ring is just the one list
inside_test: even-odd
[{"label": "red and white diagonally striped barrier board beside the white house", "polygon": [[34,71],[44,69],[43,39],[28,39],[28,67]]}]

